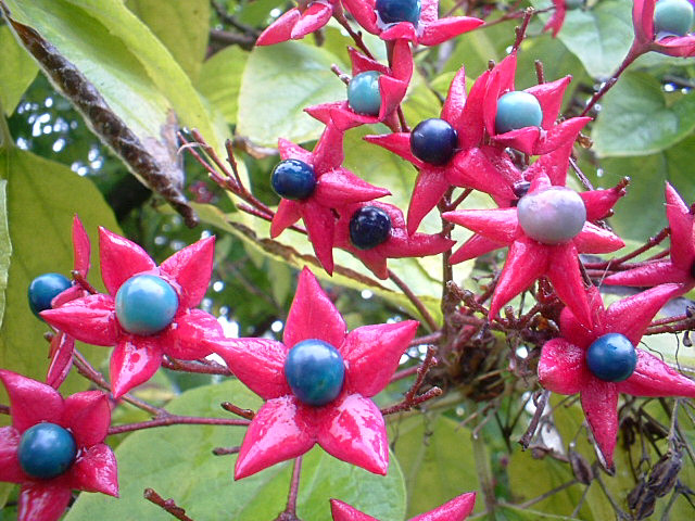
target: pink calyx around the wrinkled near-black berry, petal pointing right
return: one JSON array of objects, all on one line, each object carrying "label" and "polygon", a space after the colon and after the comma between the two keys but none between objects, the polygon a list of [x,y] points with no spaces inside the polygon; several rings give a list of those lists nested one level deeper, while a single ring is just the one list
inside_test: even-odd
[{"label": "pink calyx around the wrinkled near-black berry, petal pointing right", "polygon": [[[363,250],[355,247],[350,239],[350,223],[356,212],[365,206],[375,206],[389,216],[391,230],[389,237],[381,244]],[[392,204],[371,202],[356,203],[344,206],[339,212],[340,218],[336,225],[334,245],[355,255],[380,279],[389,278],[387,258],[426,257],[438,255],[450,250],[455,241],[439,234],[413,233],[405,229],[405,219],[401,209]]]}]

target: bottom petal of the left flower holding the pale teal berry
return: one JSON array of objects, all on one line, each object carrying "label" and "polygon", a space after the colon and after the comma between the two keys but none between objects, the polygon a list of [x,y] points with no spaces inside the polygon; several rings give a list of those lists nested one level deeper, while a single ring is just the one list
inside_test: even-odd
[{"label": "bottom petal of the left flower holding the pale teal berry", "polygon": [[157,338],[130,336],[116,343],[111,354],[111,391],[118,398],[147,382],[162,365],[162,346]]}]

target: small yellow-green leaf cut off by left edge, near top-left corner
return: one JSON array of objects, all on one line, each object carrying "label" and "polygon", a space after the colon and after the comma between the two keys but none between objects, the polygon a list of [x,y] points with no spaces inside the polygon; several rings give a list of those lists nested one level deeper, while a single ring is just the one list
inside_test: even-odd
[{"label": "small yellow-green leaf cut off by left edge, near top-left corner", "polygon": [[31,56],[17,45],[7,25],[0,26],[0,49],[2,49],[0,106],[4,111],[4,114],[0,114],[0,116],[9,116],[14,112],[22,94],[36,77],[39,67],[36,66]]}]

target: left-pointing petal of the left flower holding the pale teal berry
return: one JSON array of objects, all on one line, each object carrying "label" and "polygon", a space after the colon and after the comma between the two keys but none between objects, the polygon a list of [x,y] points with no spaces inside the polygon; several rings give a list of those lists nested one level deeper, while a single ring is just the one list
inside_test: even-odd
[{"label": "left-pointing petal of the left flower holding the pale teal berry", "polygon": [[88,344],[114,345],[116,342],[118,326],[111,295],[87,295],[39,315],[55,329]]}]

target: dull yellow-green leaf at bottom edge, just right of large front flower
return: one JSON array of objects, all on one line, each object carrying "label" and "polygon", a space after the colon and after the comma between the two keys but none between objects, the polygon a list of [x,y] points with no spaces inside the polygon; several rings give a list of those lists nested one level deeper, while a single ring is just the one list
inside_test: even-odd
[{"label": "dull yellow-green leaf at bottom edge, just right of large front flower", "polygon": [[[391,419],[389,431],[405,474],[408,517],[480,490],[468,429],[442,415],[417,415]],[[476,511],[484,509],[481,499]]]}]

